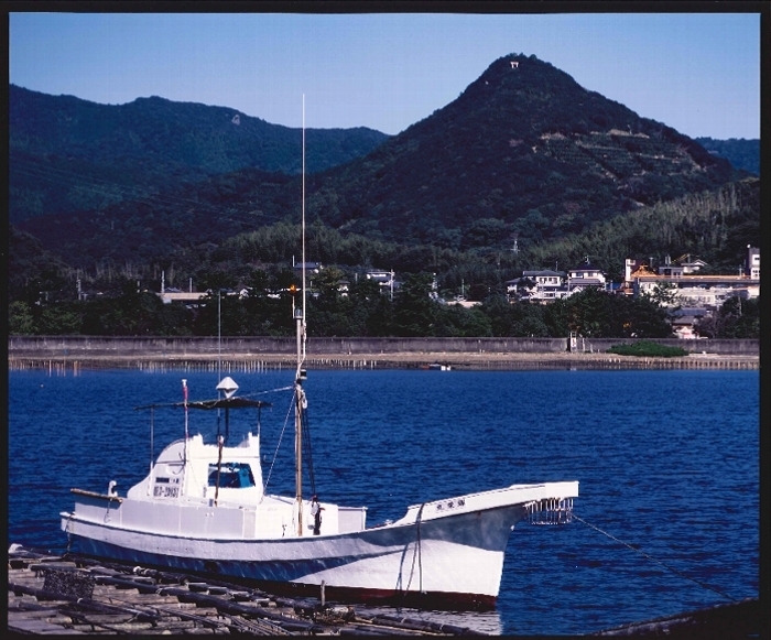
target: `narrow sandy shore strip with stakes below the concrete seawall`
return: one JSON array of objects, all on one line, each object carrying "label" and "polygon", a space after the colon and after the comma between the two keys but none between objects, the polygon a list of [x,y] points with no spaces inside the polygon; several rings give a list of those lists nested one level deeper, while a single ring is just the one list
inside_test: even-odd
[{"label": "narrow sandy shore strip with stakes below the concrete seawall", "polygon": [[[621,369],[760,369],[759,356],[689,354],[671,358],[619,356],[606,352],[447,352],[411,351],[356,355],[308,356],[306,369],[428,369],[441,365],[445,370],[523,371],[523,370],[621,370]],[[79,371],[139,369],[142,371],[262,371],[294,369],[291,354],[228,352],[211,354],[73,354],[13,355],[9,352],[9,371]]]}]

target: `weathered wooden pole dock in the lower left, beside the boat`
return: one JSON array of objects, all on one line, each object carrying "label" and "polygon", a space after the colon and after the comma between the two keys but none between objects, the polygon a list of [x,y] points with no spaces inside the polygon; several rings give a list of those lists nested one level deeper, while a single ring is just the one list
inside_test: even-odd
[{"label": "weathered wooden pole dock in the lower left, beside the boat", "polygon": [[350,606],[294,600],[219,581],[11,545],[12,634],[480,636]]}]

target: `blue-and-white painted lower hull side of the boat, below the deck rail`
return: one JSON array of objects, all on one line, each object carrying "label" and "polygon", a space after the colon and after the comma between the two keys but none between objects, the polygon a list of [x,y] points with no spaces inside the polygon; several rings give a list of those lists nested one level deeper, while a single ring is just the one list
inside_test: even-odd
[{"label": "blue-and-white painted lower hull side of the boat, below the deck rail", "polygon": [[[522,506],[328,536],[273,541],[195,540],[79,521],[66,527],[74,550],[97,557],[240,582],[281,585],[356,600],[442,601],[489,608],[500,587],[511,528]],[[302,589],[302,587],[311,587]]]}]

